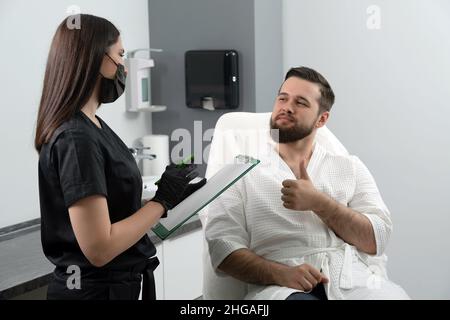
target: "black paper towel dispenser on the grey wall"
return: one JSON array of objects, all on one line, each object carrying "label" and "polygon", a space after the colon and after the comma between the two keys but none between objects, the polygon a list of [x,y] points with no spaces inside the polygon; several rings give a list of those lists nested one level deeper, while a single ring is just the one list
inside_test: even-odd
[{"label": "black paper towel dispenser on the grey wall", "polygon": [[238,53],[235,50],[190,50],[184,58],[189,108],[239,107]]}]

